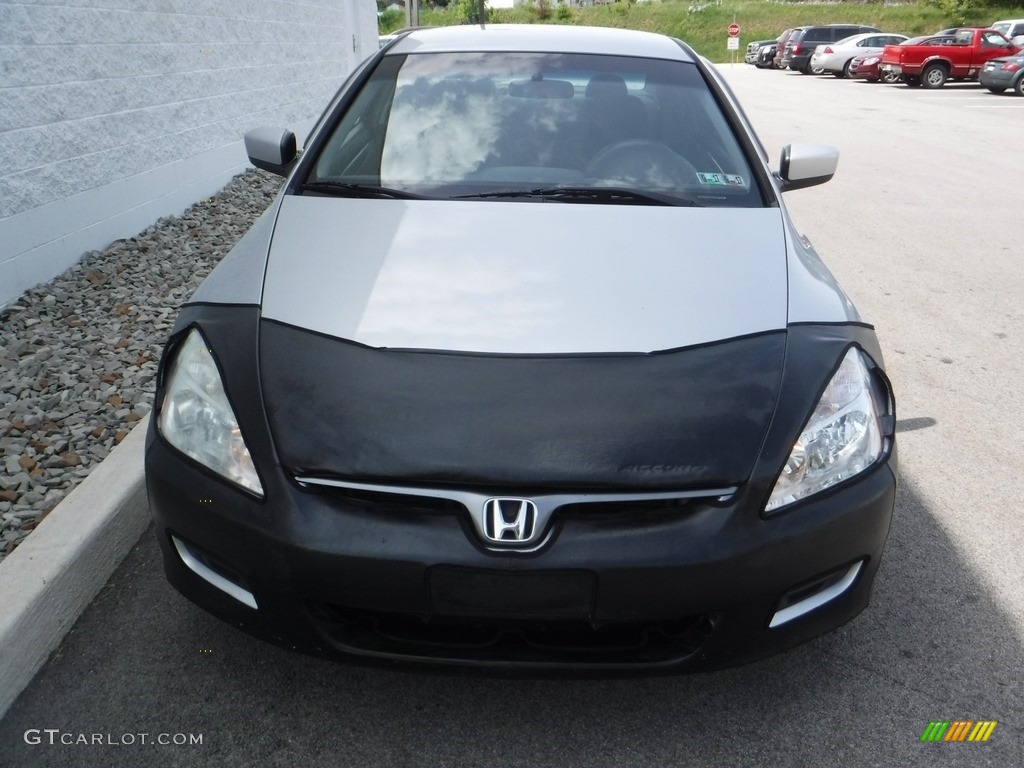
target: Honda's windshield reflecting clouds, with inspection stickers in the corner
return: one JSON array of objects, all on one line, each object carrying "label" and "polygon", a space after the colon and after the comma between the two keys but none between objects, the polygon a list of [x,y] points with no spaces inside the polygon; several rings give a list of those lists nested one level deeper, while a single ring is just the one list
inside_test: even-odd
[{"label": "Honda's windshield reflecting clouds, with inspection stickers in the corner", "polygon": [[[508,191],[596,204],[631,191],[642,204],[765,205],[695,66],[585,54],[385,56],[305,184],[318,194],[332,185],[390,198]],[[616,194],[579,194],[605,187]],[[571,194],[552,195],[563,188]]]}]

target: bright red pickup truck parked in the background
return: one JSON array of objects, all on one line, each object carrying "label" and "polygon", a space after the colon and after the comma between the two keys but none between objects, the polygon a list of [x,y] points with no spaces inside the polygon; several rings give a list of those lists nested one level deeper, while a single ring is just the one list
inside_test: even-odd
[{"label": "bright red pickup truck parked in the background", "polygon": [[975,80],[982,66],[1020,48],[995,30],[961,28],[951,37],[934,37],[916,45],[887,45],[879,69],[900,76],[909,86],[941,88],[946,80]]}]

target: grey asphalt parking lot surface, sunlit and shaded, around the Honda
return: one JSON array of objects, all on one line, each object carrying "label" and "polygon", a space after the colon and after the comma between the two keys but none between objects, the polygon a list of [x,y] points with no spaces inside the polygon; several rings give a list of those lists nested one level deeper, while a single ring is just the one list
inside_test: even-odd
[{"label": "grey asphalt parking lot surface, sunlit and shaded, around the Honda", "polygon": [[[773,161],[791,140],[841,151],[831,182],[787,203],[878,327],[897,394],[902,486],[861,616],[707,675],[348,667],[187,603],[150,531],[0,721],[0,764],[1024,764],[1024,268],[1010,159],[1024,99],[724,69]],[[985,743],[924,743],[933,720],[998,725]]]}]

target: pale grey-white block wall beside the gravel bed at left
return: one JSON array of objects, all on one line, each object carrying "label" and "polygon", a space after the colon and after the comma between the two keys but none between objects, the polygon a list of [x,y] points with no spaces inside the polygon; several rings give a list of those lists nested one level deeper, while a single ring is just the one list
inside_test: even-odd
[{"label": "pale grey-white block wall beside the gravel bed at left", "polygon": [[377,49],[373,0],[0,0],[0,306],[299,140]]}]

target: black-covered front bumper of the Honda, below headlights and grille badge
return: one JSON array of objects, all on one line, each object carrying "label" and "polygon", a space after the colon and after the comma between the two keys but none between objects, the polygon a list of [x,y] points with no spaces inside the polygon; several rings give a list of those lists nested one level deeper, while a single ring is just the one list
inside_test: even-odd
[{"label": "black-covered front bumper of the Honda, below headlights and grille badge", "polygon": [[307,652],[523,670],[712,669],[833,630],[867,604],[896,488],[891,457],[768,519],[742,488],[727,504],[566,511],[516,554],[443,505],[282,472],[257,501],[155,429],[145,464],[168,579],[215,615]]}]

